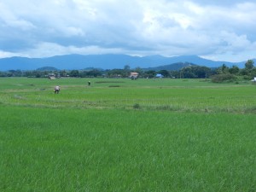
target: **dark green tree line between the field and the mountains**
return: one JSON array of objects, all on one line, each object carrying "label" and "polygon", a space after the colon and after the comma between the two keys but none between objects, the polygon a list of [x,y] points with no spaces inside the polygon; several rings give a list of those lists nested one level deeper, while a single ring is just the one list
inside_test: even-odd
[{"label": "dark green tree line between the field and the mountains", "polygon": [[6,72],[0,71],[0,77],[27,77],[27,78],[49,78],[52,74],[56,78],[73,77],[73,78],[128,78],[131,72],[139,73],[139,78],[152,79],[156,74],[161,74],[164,78],[175,79],[209,79],[213,82],[223,82],[226,80],[236,79],[253,79],[256,77],[256,67],[253,66],[253,60],[248,60],[244,68],[237,66],[227,67],[223,64],[221,67],[210,68],[203,66],[183,67],[180,70],[145,70],[140,67],[131,69],[126,65],[122,69],[111,70],[9,70]]}]

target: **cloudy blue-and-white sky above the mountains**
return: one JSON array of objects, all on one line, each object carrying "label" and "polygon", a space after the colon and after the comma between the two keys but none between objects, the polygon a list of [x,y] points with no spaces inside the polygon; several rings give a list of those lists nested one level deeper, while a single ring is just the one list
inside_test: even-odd
[{"label": "cloudy blue-and-white sky above the mountains", "polygon": [[0,58],[256,58],[255,0],[0,0]]}]

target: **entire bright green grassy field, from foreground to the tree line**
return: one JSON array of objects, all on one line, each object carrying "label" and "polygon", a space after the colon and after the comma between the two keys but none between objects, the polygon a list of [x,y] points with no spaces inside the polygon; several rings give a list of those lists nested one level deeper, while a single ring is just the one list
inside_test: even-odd
[{"label": "entire bright green grassy field, from foreground to the tree line", "polygon": [[0,191],[254,192],[255,93],[199,79],[0,79]]}]

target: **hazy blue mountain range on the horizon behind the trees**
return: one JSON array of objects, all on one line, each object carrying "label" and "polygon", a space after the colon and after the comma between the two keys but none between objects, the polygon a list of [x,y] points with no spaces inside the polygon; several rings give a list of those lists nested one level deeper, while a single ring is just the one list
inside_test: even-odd
[{"label": "hazy blue mountain range on the horizon behind the trees", "polygon": [[[255,59],[253,60],[256,61]],[[9,57],[0,59],[0,71],[8,70],[36,70],[40,67],[55,67],[58,69],[84,69],[89,67],[113,69],[124,68],[170,68],[177,63],[190,63],[205,67],[220,67],[225,64],[228,67],[244,67],[246,61],[228,62],[212,61],[197,55],[182,55],[166,57],[161,55],[131,56],[131,55],[56,55],[46,58]]]}]

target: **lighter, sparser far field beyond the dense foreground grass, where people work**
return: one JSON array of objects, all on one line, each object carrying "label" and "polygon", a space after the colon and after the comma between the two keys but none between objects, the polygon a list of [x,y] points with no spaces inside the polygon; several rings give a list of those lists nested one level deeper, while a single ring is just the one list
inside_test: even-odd
[{"label": "lighter, sparser far field beyond the dense foreground grass, where people work", "polygon": [[[87,81],[10,79],[4,82],[10,85],[3,85],[0,90],[2,103],[37,108],[116,109],[131,109],[138,104],[141,110],[196,113],[254,113],[256,107],[253,84],[212,84],[198,79],[95,79],[88,87],[84,82]],[[61,85],[58,96],[53,94],[55,84]]]}]

